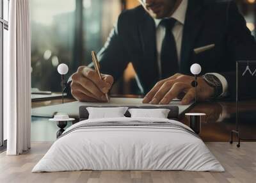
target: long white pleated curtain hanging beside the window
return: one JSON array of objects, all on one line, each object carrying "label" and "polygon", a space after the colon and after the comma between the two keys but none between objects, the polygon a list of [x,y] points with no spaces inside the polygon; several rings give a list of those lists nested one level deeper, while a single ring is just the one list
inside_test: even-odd
[{"label": "long white pleated curtain hanging beside the window", "polygon": [[7,152],[18,155],[31,145],[31,51],[29,0],[11,0],[8,61],[4,63],[4,120]]}]

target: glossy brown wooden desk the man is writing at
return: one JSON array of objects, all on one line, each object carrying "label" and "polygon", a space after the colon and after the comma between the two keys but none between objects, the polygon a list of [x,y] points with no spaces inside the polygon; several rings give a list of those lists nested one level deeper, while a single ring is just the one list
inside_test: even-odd
[{"label": "glossy brown wooden desk the man is writing at", "polygon": [[[138,97],[137,95],[116,95],[115,97]],[[73,102],[74,99],[65,99]],[[32,107],[61,104],[61,99],[32,102]],[[205,113],[202,117],[201,138],[204,141],[229,141],[230,132],[236,128],[236,102],[201,102],[189,109],[189,113]],[[239,122],[242,139],[256,139],[256,100],[241,102],[239,112],[243,118]],[[253,113],[254,112],[254,113]],[[254,117],[252,116],[254,114]],[[255,122],[253,123],[253,118]],[[189,125],[189,118],[182,115],[180,122]],[[55,134],[54,134],[55,135]]]}]

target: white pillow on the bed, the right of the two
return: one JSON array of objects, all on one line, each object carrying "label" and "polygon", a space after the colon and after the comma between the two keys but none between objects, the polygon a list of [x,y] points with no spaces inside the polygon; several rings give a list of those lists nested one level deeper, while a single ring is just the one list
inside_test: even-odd
[{"label": "white pillow on the bed, the right of the two", "polygon": [[129,109],[131,118],[168,118],[170,109]]}]

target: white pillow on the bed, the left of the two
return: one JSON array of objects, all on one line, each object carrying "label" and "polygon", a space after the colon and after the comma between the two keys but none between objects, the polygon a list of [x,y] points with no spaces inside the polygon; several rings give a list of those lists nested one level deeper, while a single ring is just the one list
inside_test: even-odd
[{"label": "white pillow on the bed, the left of the two", "polygon": [[128,107],[86,107],[89,119],[125,117]]}]

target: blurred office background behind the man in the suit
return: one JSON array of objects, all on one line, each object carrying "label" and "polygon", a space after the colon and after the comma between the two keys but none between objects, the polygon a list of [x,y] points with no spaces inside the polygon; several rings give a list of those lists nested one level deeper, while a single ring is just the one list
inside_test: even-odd
[{"label": "blurred office background behind the man in the suit", "polygon": [[[256,0],[236,1],[255,35]],[[91,51],[99,52],[118,15],[138,6],[138,0],[30,0],[32,88],[61,92],[60,63],[70,68],[91,63]],[[112,94],[140,94],[129,64],[116,81]]]}]

